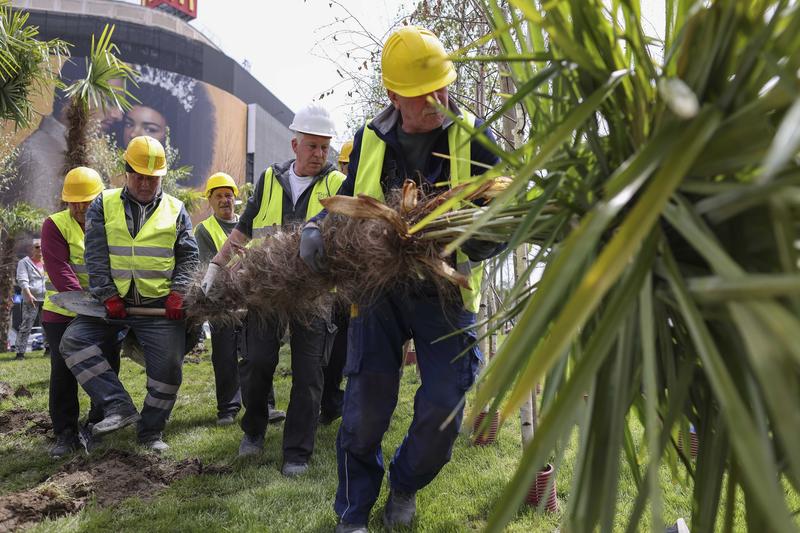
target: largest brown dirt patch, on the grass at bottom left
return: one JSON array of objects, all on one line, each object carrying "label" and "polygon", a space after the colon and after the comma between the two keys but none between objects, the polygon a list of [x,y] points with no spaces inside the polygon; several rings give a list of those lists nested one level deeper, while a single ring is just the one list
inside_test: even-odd
[{"label": "largest brown dirt patch, on the grass at bottom left", "polygon": [[0,497],[0,533],[77,512],[92,498],[103,507],[130,497],[146,500],[172,482],[202,472],[198,459],[175,463],[121,450],[76,457],[37,487]]}]

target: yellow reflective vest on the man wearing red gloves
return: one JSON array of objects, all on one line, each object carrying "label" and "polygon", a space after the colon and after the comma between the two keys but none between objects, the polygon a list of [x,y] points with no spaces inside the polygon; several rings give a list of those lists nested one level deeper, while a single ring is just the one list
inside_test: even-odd
[{"label": "yellow reflective vest on the man wearing red gloves", "polygon": [[131,237],[125,222],[122,189],[103,191],[108,258],[111,277],[120,296],[128,294],[131,280],[145,298],[169,294],[175,268],[175,240],[183,203],[166,193],[150,218]]}]

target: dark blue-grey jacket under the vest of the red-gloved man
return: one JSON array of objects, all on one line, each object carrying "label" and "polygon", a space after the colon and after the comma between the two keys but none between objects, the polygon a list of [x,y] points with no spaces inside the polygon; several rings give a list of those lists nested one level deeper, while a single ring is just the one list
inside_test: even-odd
[{"label": "dark blue-grey jacket under the vest of the red-gloved man", "polygon": [[[156,195],[149,204],[140,204],[128,195],[128,189],[122,190],[122,203],[125,206],[125,219],[128,231],[135,237],[150,215],[156,210],[161,195]],[[200,266],[198,260],[197,241],[192,235],[192,219],[185,207],[181,207],[178,215],[177,239],[175,240],[175,268],[172,272],[172,289],[186,292],[192,283],[195,271]],[[86,251],[83,254],[86,269],[89,271],[89,291],[101,302],[117,294],[117,286],[111,277],[111,263],[108,259],[108,240],[106,238],[105,215],[103,213],[103,195],[95,198],[86,211]],[[164,298],[144,298],[131,284],[131,289],[124,296],[125,302],[136,305],[159,305]]]}]

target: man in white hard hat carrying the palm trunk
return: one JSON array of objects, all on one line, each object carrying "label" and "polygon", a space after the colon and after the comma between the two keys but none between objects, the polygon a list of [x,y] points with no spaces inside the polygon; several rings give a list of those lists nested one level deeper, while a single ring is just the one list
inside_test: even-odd
[{"label": "man in white hard hat carrying the palm trunk", "polygon": [[[333,120],[319,104],[302,108],[289,126],[296,158],[267,168],[220,252],[211,260],[203,280],[208,293],[219,269],[235,250],[251,239],[266,239],[284,225],[300,224],[322,210],[320,199],[335,195],[344,174],[327,161]],[[239,455],[259,453],[267,427],[267,392],[278,364],[280,341],[287,324],[276,319],[247,320],[242,361],[244,436]],[[314,450],[326,364],[335,327],[321,319],[291,321],[292,392],[283,429],[283,466],[287,477],[302,475]]]}]

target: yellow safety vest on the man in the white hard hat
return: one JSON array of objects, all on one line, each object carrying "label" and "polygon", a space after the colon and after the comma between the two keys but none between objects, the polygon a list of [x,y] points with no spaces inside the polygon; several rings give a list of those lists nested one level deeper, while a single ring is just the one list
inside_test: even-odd
[{"label": "yellow safety vest on the man in the white hard hat", "polygon": [[[339,192],[345,178],[338,170],[331,170],[327,176],[314,184],[308,199],[306,220],[322,211],[320,200]],[[273,192],[274,191],[274,192]],[[261,193],[261,208],[253,219],[253,239],[263,239],[274,234],[283,223],[283,187],[269,167],[264,173],[264,190]]]}]

